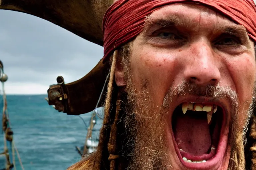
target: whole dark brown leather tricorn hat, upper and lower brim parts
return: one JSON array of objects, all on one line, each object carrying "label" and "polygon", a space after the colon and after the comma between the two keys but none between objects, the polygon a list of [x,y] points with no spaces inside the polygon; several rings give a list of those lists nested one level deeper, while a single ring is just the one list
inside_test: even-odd
[{"label": "whole dark brown leather tricorn hat, upper and lower brim parts", "polygon": [[[102,19],[114,0],[0,0],[0,9],[31,14],[48,20],[95,44],[103,46]],[[103,55],[103,54],[102,54]],[[79,115],[94,109],[109,64],[101,61],[78,81],[50,86],[48,102],[60,112]],[[61,100],[60,100],[61,99]],[[104,97],[101,100],[102,104]]]}]

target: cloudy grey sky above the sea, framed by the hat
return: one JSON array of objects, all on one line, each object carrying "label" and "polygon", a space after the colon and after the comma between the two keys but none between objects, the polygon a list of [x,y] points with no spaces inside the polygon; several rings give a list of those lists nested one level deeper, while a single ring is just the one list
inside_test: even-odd
[{"label": "cloudy grey sky above the sea, framed by the hat", "polygon": [[[255,1],[255,0],[254,0]],[[41,18],[0,10],[0,59],[8,94],[46,94],[62,75],[82,78],[101,59],[103,48]]]}]

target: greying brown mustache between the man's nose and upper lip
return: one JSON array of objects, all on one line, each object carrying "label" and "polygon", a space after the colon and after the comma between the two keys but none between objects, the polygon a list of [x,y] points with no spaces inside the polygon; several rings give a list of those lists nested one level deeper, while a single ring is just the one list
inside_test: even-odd
[{"label": "greying brown mustache between the man's nose and upper lip", "polygon": [[183,81],[175,87],[171,87],[163,99],[162,107],[164,109],[169,108],[169,104],[173,102],[174,98],[184,95],[193,95],[197,97],[207,97],[212,101],[218,101],[220,99],[226,99],[230,102],[231,107],[238,108],[238,95],[230,87],[220,86],[220,84],[205,86],[198,85],[191,81]]}]

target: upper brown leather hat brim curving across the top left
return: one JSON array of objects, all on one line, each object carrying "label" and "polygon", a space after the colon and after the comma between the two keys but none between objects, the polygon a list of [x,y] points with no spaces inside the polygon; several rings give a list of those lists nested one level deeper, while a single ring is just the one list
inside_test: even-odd
[{"label": "upper brown leather hat brim curving across the top left", "polygon": [[40,17],[103,46],[102,19],[111,4],[113,0],[0,0],[0,9]]}]

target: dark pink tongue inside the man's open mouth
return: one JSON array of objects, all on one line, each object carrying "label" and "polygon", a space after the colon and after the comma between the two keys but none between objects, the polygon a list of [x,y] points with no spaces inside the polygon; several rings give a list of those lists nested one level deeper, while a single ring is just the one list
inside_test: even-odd
[{"label": "dark pink tongue inside the man's open mouth", "polygon": [[179,149],[195,156],[206,154],[211,147],[207,116],[203,112],[178,114],[174,135]]}]

